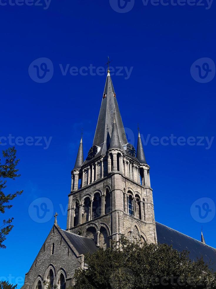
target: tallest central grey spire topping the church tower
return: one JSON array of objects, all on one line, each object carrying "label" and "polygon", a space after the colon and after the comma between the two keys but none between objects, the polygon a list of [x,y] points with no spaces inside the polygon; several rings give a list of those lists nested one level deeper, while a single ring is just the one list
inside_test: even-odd
[{"label": "tallest central grey spire topping the church tower", "polygon": [[106,151],[108,150],[110,145],[110,135],[113,128],[113,114],[115,114],[116,127],[120,142],[121,144],[127,144],[128,141],[118,108],[115,90],[110,77],[110,73],[108,71],[106,84],[103,92],[101,109],[93,141],[93,145],[101,147],[101,155],[106,155]]}]

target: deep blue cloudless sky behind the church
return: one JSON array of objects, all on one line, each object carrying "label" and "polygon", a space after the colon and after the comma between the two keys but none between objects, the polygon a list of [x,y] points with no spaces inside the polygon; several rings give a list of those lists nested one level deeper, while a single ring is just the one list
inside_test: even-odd
[{"label": "deep blue cloudless sky behind the church", "polygon": [[[114,0],[113,0],[114,1]],[[2,0],[2,2],[4,2]],[[8,3],[8,2],[7,2]],[[41,3],[44,2],[41,0]],[[203,2],[205,3],[205,2]],[[46,6],[46,5],[44,5]],[[115,12],[108,0],[52,0],[43,6],[0,6],[1,23],[1,135],[52,137],[50,146],[16,145],[21,177],[9,182],[7,193],[24,189],[3,218],[14,217],[14,229],[0,251],[0,277],[22,285],[54,218],[39,224],[31,219],[29,205],[49,198],[58,223],[66,228],[68,193],[81,128],[84,155],[93,142],[105,75],[69,73],[67,64],[104,66],[110,55],[113,67],[133,67],[128,79],[113,75],[128,139],[137,139],[137,123],[146,138],[215,136],[215,79],[195,81],[190,67],[197,59],[215,55],[215,3],[204,6],[153,6],[136,1],[128,13]],[[49,58],[53,78],[34,82],[29,65]],[[5,149],[9,146],[9,140]],[[215,144],[204,146],[145,146],[155,219],[200,239],[202,224],[190,208],[199,198],[216,202]],[[207,199],[208,200],[208,199]],[[62,208],[62,209],[61,209]],[[197,215],[197,217],[196,217]],[[216,247],[215,218],[203,224],[207,244]]]}]

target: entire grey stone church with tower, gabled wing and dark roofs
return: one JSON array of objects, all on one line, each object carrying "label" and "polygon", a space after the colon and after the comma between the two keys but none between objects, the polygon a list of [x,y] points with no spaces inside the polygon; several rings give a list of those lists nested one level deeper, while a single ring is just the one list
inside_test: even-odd
[{"label": "entire grey stone church with tower, gabled wing and dark roofs", "polygon": [[[150,167],[138,133],[137,149],[128,143],[117,96],[108,70],[101,109],[87,158],[81,139],[71,172],[66,230],[55,223],[43,243],[23,288],[65,289],[73,284],[76,269],[85,268],[84,254],[121,235],[150,243],[167,243],[190,251],[190,258],[216,261],[216,249],[155,222]],[[216,264],[212,265],[216,271]]]}]

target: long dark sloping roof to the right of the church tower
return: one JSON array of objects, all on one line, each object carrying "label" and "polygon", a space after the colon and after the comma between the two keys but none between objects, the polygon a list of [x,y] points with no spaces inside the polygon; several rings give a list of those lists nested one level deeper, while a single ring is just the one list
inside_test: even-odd
[{"label": "long dark sloping roof to the right of the church tower", "polygon": [[[156,222],[157,238],[160,244],[172,245],[177,251],[190,251],[189,257],[196,261],[197,257],[203,260],[216,271],[216,249],[212,248],[196,239],[188,237],[174,229]],[[213,264],[212,264],[213,263]]]}]

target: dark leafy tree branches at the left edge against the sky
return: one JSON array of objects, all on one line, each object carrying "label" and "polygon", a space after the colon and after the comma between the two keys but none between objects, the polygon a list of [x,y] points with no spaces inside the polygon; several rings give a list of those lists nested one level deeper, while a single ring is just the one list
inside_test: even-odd
[{"label": "dark leafy tree branches at the left edge against the sky", "polygon": [[[17,191],[14,194],[5,195],[3,190],[6,188],[6,179],[15,180],[15,178],[19,177],[20,175],[16,174],[18,169],[16,169],[19,160],[16,160],[16,149],[15,147],[10,147],[7,150],[2,151],[3,161],[0,158],[0,213],[4,214],[5,209],[10,209],[13,205],[9,204],[16,196],[21,195],[23,191]],[[10,218],[8,220],[3,220],[3,227],[0,229],[0,248],[6,248],[3,242],[6,240],[6,236],[12,230],[13,225],[11,222],[14,218]]]}]

